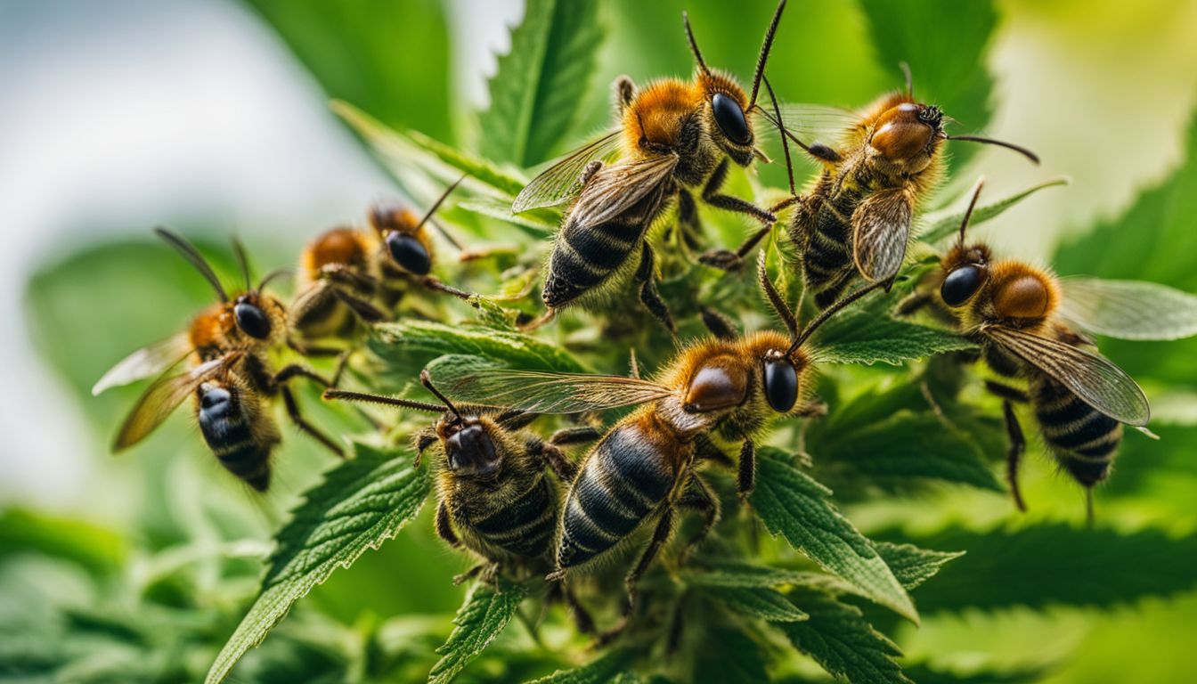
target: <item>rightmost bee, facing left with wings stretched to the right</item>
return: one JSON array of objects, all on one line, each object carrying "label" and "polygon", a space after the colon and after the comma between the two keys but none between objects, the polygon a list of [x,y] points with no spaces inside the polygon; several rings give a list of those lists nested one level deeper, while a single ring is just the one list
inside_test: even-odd
[{"label": "rightmost bee, facing left with wings stretched to the right", "polygon": [[1143,428],[1150,410],[1138,385],[1096,353],[1081,331],[1124,339],[1178,339],[1197,334],[1197,297],[1152,283],[1057,278],[1013,259],[995,259],[989,246],[965,243],[968,218],[940,268],[899,304],[900,314],[932,307],[955,320],[980,345],[1001,377],[986,387],[1003,399],[1010,435],[1010,491],[1025,509],[1017,467],[1025,449],[1011,402],[1029,404],[1047,450],[1086,488],[1106,479],[1123,425]]}]

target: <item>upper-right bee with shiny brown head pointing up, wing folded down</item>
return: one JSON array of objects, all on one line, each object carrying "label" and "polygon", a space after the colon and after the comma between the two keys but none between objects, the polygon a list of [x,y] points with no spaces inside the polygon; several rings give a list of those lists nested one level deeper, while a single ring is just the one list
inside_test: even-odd
[{"label": "upper-right bee with shiny brown head pointing up, wing folded down", "polygon": [[[909,69],[905,92],[886,95],[858,115],[800,104],[788,105],[782,116],[788,131],[783,140],[792,139],[824,167],[808,193],[773,207],[797,205],[789,234],[820,308],[834,302],[857,274],[870,283],[898,274],[915,212],[942,176],[944,140],[999,145],[1039,163],[1034,153],[1010,143],[948,135],[943,113],[915,99]],[[843,128],[832,133],[834,147],[807,145],[794,135],[826,132],[836,121]]]}]

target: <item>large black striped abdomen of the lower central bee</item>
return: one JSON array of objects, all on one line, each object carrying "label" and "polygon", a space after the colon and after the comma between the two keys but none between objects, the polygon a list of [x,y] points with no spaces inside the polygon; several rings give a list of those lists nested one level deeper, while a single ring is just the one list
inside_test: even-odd
[{"label": "large black striped abdomen of the lower central bee", "polygon": [[666,501],[676,477],[638,423],[618,425],[595,447],[566,495],[558,568],[585,563],[631,534]]}]

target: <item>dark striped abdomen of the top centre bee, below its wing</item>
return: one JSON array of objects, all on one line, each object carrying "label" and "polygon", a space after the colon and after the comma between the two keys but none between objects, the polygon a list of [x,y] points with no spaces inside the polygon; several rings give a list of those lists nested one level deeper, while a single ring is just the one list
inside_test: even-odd
[{"label": "dark striped abdomen of the top centre bee, below its wing", "polygon": [[600,224],[587,222],[595,210],[583,195],[553,243],[541,295],[545,305],[567,304],[601,285],[628,256],[638,254],[645,231],[664,206],[663,194],[661,186],[624,213]]}]

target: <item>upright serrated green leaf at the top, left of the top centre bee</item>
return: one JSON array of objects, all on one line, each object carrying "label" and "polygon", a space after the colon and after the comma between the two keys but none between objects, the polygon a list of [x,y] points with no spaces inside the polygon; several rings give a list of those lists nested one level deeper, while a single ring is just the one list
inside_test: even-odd
[{"label": "upright serrated green leaf at the top, left of the top centre bee", "polygon": [[528,0],[490,81],[482,153],[523,168],[548,159],[581,115],[601,42],[594,0]]}]

